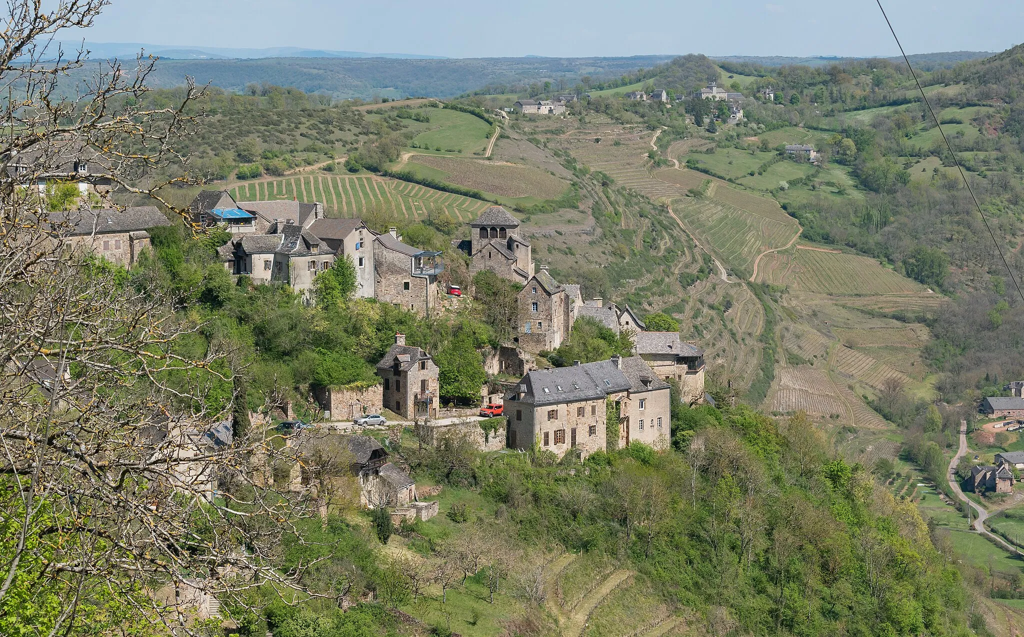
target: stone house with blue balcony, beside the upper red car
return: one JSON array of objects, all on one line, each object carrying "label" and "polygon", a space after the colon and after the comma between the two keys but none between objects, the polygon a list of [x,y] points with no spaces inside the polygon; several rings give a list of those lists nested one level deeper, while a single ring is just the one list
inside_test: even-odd
[{"label": "stone house with blue balcony, beside the upper red car", "polygon": [[437,307],[437,275],[443,269],[439,253],[407,246],[394,228],[374,242],[374,297],[429,316]]}]

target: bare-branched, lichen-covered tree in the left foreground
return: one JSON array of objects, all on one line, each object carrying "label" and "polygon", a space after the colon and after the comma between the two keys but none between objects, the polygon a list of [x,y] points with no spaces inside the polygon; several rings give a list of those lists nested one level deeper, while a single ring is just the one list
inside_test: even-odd
[{"label": "bare-branched, lichen-covered tree in the left foreground", "polygon": [[[169,183],[143,188],[142,177],[171,164],[186,174],[174,142],[202,90],[188,80],[176,107],[146,109],[154,60],[102,62],[86,78],[86,55],[51,40],[105,4],[14,0],[0,48],[11,90],[0,108],[3,635],[187,632],[186,594],[244,606],[247,589],[299,577],[275,563],[308,502],[250,468],[274,452],[263,431],[229,421],[241,364],[216,335],[196,347],[203,326],[174,299],[72,237],[90,222],[88,201],[48,212],[28,185],[88,159],[99,167],[88,179],[166,203]],[[59,97],[67,78],[74,99]]]}]

